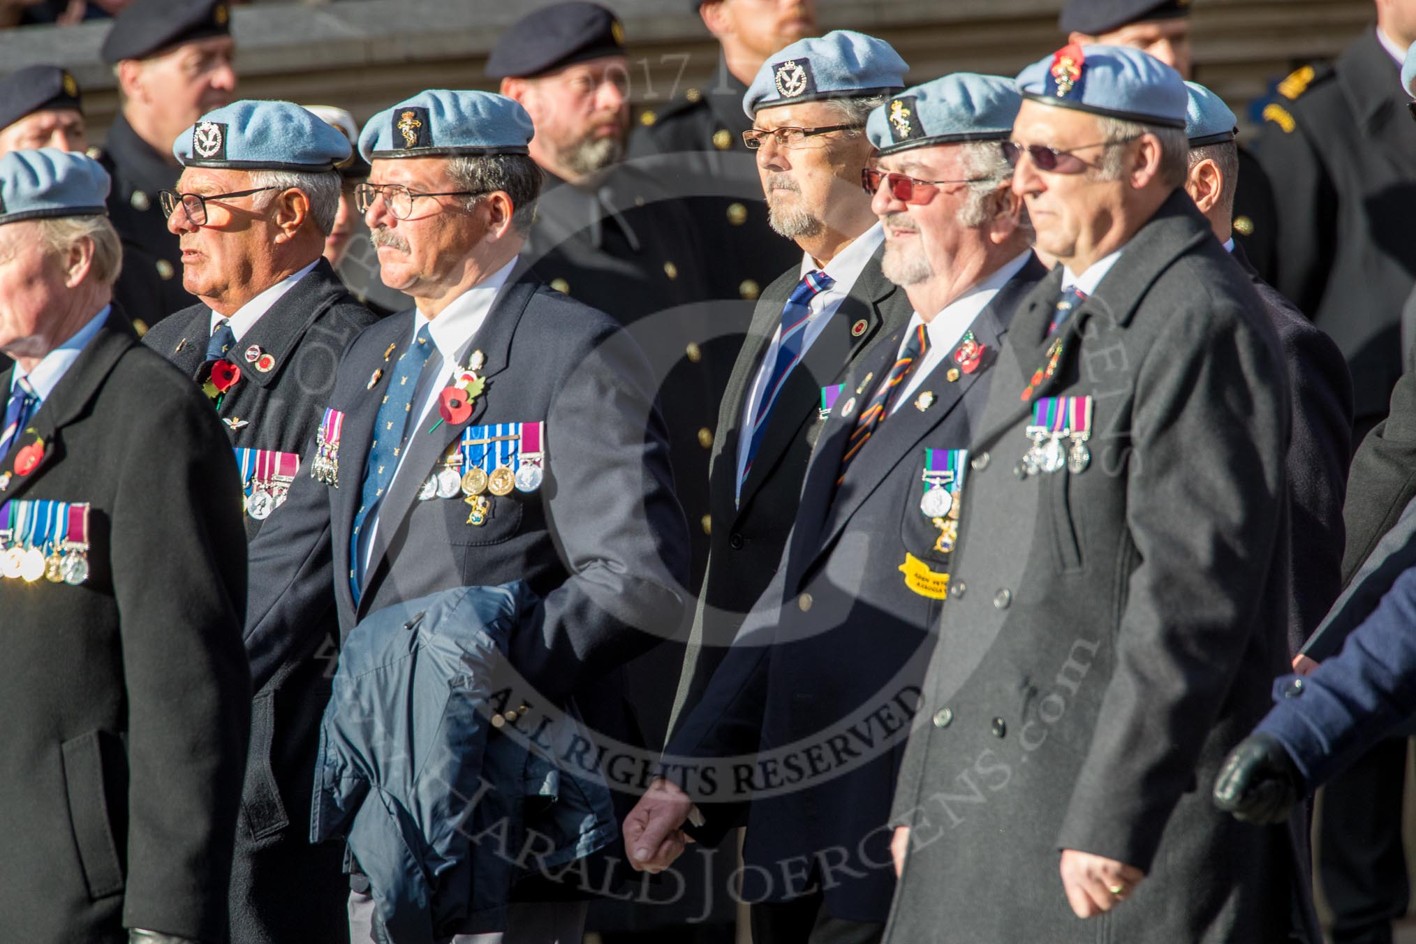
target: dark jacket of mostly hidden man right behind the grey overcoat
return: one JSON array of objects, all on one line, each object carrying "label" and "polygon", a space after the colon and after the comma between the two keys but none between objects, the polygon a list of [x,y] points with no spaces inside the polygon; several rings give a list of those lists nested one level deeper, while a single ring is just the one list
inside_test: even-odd
[{"label": "dark jacket of mostly hidden man right behind the grey overcoat", "polygon": [[1342,590],[1342,498],[1352,450],[1352,378],[1332,338],[1279,294],[1240,246],[1249,275],[1283,345],[1293,395],[1289,440],[1289,651],[1297,654]]}]

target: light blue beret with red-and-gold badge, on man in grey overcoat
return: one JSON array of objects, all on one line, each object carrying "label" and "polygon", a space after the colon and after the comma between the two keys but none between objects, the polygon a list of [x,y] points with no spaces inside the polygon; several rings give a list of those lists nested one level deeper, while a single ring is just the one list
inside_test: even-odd
[{"label": "light blue beret with red-and-gold badge, on man in grey overcoat", "polygon": [[1123,45],[1065,45],[1022,69],[1018,91],[1031,102],[1167,127],[1185,126],[1189,103],[1180,72]]}]

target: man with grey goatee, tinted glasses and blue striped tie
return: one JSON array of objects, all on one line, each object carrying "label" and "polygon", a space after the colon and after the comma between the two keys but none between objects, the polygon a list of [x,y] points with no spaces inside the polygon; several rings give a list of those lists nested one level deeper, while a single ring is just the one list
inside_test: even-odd
[{"label": "man with grey goatee, tinted glasses and blue striped tie", "polygon": [[770,57],[743,98],[769,224],[803,255],[758,300],[718,410],[708,573],[675,712],[700,699],[782,560],[823,388],[909,320],[860,177],[875,153],[865,119],[906,68],[889,44],[840,30]]}]

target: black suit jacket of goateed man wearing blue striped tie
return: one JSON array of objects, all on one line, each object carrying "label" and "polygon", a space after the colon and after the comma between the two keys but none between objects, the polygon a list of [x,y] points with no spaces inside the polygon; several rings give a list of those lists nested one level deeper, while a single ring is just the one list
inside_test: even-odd
[{"label": "black suit jacket of goateed man wearing blue striped tie", "polygon": [[712,515],[708,573],[694,614],[675,718],[698,702],[743,616],[767,589],[782,560],[807,460],[821,432],[821,388],[841,382],[881,337],[909,323],[913,306],[881,272],[882,253],[884,245],[855,279],[831,323],[787,375],[738,501],[742,406],[780,324],[782,307],[800,282],[799,267],[777,277],[758,301],[718,410],[708,483]]}]

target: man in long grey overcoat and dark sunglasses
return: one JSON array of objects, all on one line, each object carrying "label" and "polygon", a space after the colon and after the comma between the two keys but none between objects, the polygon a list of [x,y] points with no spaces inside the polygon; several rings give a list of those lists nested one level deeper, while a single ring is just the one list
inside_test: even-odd
[{"label": "man in long grey overcoat and dark sunglasses", "polygon": [[1272,940],[1290,836],[1195,785],[1287,660],[1283,354],[1182,190],[1174,69],[1069,45],[1018,91],[1012,188],[1061,265],[970,446],[885,940]]}]

